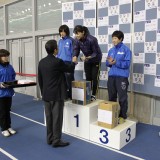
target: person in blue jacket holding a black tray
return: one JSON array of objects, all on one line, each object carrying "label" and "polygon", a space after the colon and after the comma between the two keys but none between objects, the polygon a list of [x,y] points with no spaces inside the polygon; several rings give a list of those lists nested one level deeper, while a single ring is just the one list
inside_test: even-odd
[{"label": "person in blue jacket holding a black tray", "polygon": [[5,49],[0,49],[0,127],[2,135],[5,137],[15,134],[16,131],[11,128],[10,110],[12,105],[12,96],[14,90],[6,88],[3,82],[14,81],[16,73],[9,64],[10,53]]}]

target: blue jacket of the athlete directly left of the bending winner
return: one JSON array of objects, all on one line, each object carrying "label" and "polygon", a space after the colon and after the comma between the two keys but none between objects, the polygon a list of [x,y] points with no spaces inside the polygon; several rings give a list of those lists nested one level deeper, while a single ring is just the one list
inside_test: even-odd
[{"label": "blue jacket of the athlete directly left of the bending winner", "polygon": [[60,39],[58,42],[58,55],[57,57],[65,62],[72,61],[74,39],[68,36]]}]

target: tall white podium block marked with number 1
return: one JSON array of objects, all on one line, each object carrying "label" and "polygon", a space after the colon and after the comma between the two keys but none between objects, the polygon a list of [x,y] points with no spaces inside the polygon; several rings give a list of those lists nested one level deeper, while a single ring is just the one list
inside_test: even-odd
[{"label": "tall white podium block marked with number 1", "polygon": [[64,132],[89,140],[90,123],[97,120],[101,101],[96,100],[86,106],[71,101],[67,103],[64,107]]}]

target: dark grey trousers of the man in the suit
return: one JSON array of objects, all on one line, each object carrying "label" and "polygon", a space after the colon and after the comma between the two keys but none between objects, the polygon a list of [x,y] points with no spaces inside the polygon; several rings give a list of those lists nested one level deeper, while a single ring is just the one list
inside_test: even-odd
[{"label": "dark grey trousers of the man in the suit", "polygon": [[44,101],[47,124],[47,143],[55,144],[61,140],[64,100]]}]

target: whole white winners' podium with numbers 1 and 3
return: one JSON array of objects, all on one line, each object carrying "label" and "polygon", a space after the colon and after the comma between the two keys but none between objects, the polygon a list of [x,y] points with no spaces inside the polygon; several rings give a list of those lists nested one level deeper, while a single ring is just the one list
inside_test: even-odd
[{"label": "whole white winners' podium with numbers 1 and 3", "polygon": [[98,126],[98,105],[102,101],[96,100],[86,106],[65,102],[63,132],[120,150],[136,137],[136,122],[125,120],[113,129]]}]

